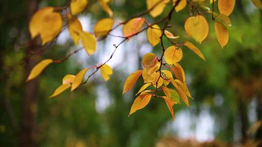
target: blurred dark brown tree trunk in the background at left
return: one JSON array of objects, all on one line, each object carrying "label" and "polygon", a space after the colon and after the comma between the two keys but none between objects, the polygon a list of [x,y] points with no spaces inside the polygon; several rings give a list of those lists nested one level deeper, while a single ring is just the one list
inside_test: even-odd
[{"label": "blurred dark brown tree trunk in the background at left", "polygon": [[[32,17],[33,13],[37,10],[37,7],[38,7],[38,0],[27,0],[28,22]],[[29,53],[35,48],[36,46],[33,42],[27,47],[25,76],[29,75],[33,66],[37,63],[36,59],[29,58],[30,55]],[[25,84],[24,97],[23,97],[23,117],[22,117],[20,147],[35,147],[36,108],[37,108],[36,90],[37,90],[37,80],[32,80]]]}]

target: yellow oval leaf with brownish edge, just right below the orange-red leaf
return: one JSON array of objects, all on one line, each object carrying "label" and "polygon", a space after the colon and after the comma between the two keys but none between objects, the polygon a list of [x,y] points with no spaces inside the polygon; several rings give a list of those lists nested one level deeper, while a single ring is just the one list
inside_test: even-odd
[{"label": "yellow oval leaf with brownish edge, just right below the orange-red leaf", "polygon": [[152,46],[156,46],[161,40],[162,31],[158,25],[153,25],[147,29],[147,39]]}]

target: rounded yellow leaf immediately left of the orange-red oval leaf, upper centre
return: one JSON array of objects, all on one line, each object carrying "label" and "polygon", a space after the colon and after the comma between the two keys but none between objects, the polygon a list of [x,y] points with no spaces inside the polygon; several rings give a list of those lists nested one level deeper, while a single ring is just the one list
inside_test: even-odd
[{"label": "rounded yellow leaf immediately left of the orange-red oval leaf, upper centre", "polygon": [[99,20],[94,27],[96,37],[107,35],[107,33],[112,29],[113,25],[114,20],[111,18]]}]

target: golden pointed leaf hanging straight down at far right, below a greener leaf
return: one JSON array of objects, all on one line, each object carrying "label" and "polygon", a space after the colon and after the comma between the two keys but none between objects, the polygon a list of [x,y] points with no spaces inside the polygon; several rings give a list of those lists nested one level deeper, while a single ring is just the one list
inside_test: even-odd
[{"label": "golden pointed leaf hanging straight down at far right, below a greener leaf", "polygon": [[215,21],[214,25],[217,41],[223,48],[229,42],[229,30],[217,21]]}]

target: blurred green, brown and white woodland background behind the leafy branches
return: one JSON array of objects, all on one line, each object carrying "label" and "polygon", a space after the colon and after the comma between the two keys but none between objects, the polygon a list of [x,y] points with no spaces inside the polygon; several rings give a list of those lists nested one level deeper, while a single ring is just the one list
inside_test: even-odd
[{"label": "blurred green, brown and white woodland background behind the leafy branches", "polygon": [[[209,0],[207,5],[209,5]],[[39,46],[30,40],[28,23],[41,7],[61,7],[68,0],[0,0],[0,146],[2,147],[259,147],[262,138],[262,11],[251,0],[236,0],[229,44],[221,49],[211,15],[208,38],[197,44],[183,24],[188,7],[175,13],[168,30],[179,35],[178,43],[190,40],[206,61],[185,47],[180,64],[195,100],[191,106],[175,105],[176,119],[163,100],[152,99],[146,108],[128,117],[135,93],[143,85],[139,79],[131,92],[122,95],[125,79],[142,69],[141,59],[152,48],[146,32],[122,44],[108,63],[114,74],[104,82],[96,73],[76,91],[69,90],[49,99],[66,74],[108,59],[113,44],[121,39],[108,36],[98,43],[97,52],[84,51],[60,64],[50,65],[36,80],[25,83],[33,65],[41,59],[62,59],[75,46],[65,29],[53,44]],[[146,0],[111,0],[116,22],[145,11]],[[167,5],[161,16],[172,7]],[[215,11],[217,7],[215,4]],[[79,15],[83,29],[93,32],[94,24],[108,17],[97,0],[89,0]],[[121,35],[121,28],[112,34]],[[48,30],[47,30],[48,31]],[[171,45],[164,40],[164,45]],[[89,71],[91,72],[91,71]],[[88,72],[88,73],[89,73]],[[90,73],[89,73],[90,74]],[[87,74],[88,75],[88,74]],[[252,125],[253,124],[253,125]],[[254,125],[255,124],[255,125]]]}]

